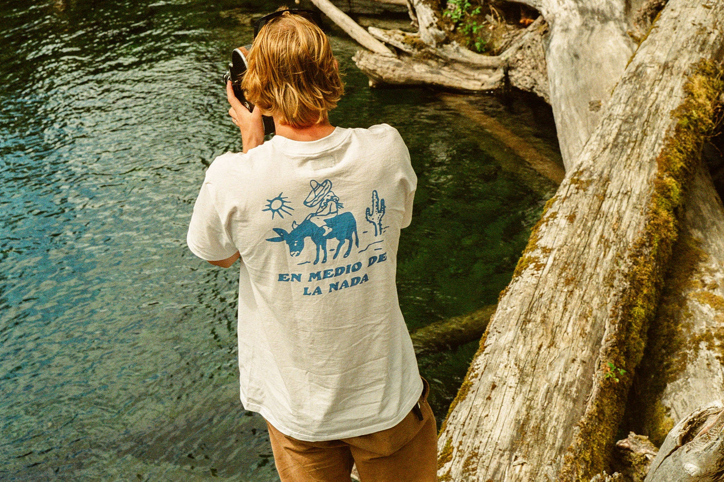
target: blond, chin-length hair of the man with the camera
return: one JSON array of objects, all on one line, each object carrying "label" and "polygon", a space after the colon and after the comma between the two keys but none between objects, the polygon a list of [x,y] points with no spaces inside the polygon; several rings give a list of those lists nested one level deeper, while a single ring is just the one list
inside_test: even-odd
[{"label": "blond, chin-length hair of the man with the camera", "polygon": [[327,35],[289,12],[270,20],[254,39],[242,88],[262,114],[295,128],[327,119],[344,93]]}]

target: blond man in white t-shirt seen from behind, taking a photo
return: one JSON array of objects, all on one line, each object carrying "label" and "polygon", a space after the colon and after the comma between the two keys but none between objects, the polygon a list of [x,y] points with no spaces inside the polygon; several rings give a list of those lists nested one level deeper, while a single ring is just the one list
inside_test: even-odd
[{"label": "blond man in white t-shirt seen from behind, taking a photo", "polygon": [[[264,17],[248,63],[256,109],[227,85],[243,153],[209,166],[188,231],[200,258],[241,260],[241,401],[266,419],[282,482],[349,482],[355,462],[363,482],[435,481],[435,421],[395,286],[408,150],[387,124],[329,123],[342,81],[304,11]],[[276,124],[266,142],[261,114]]]}]

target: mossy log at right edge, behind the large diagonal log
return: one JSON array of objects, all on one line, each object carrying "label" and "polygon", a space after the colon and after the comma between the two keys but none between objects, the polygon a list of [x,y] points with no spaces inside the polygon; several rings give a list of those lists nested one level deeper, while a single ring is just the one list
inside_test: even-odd
[{"label": "mossy log at right edge, behind the large diagonal log", "polygon": [[649,332],[628,425],[661,444],[691,410],[724,399],[724,207],[704,166]]}]

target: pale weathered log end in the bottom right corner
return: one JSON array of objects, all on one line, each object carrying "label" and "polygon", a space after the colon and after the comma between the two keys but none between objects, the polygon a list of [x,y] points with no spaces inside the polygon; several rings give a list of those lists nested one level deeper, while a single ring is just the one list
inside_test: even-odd
[{"label": "pale weathered log end in the bottom right corner", "polygon": [[724,481],[724,405],[712,402],[676,424],[645,482],[720,481]]}]

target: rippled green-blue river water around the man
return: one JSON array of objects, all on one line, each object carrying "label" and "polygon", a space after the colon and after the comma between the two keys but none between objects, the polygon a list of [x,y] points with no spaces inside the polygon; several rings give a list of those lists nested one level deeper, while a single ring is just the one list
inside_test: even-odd
[{"label": "rippled green-blue river water around the man", "polygon": [[[0,480],[278,480],[238,402],[237,273],[185,246],[206,166],[240,148],[224,65],[277,4],[0,4]],[[445,97],[369,89],[355,45],[332,43],[348,91],[332,122],[392,124],[418,173],[408,325],[494,303],[552,183]],[[463,100],[558,156],[529,96]],[[438,417],[475,350],[420,360]]]}]

